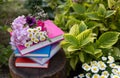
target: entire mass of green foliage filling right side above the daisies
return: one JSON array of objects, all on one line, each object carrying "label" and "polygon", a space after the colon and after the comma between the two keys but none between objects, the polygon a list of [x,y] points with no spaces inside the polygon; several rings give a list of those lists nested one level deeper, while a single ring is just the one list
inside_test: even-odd
[{"label": "entire mass of green foliage filling right side above the daisies", "polygon": [[73,69],[78,62],[101,55],[120,59],[119,4],[119,0],[66,0],[59,4],[54,22],[69,32],[61,45]]}]

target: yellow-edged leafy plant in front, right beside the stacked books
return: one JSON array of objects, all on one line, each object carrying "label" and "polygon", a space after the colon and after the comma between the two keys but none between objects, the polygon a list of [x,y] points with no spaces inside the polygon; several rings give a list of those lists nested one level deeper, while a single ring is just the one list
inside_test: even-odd
[{"label": "yellow-edged leafy plant in front, right beside the stacked books", "polygon": [[108,31],[98,38],[93,29],[81,21],[71,27],[70,32],[64,35],[61,46],[65,50],[69,59],[70,66],[75,69],[78,62],[89,62],[98,59],[104,54],[108,54],[104,49],[111,50],[112,46],[118,41],[118,32]]}]

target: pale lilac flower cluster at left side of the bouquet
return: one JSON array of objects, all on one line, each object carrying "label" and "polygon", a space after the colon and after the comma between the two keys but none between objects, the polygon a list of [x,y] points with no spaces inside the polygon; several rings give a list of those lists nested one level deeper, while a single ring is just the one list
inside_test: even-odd
[{"label": "pale lilac flower cluster at left side of the bouquet", "polygon": [[12,49],[16,48],[16,45],[24,45],[28,40],[27,29],[29,26],[25,26],[26,18],[25,16],[19,16],[12,22],[12,35],[11,35],[11,46]]}]

